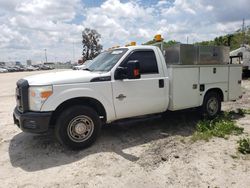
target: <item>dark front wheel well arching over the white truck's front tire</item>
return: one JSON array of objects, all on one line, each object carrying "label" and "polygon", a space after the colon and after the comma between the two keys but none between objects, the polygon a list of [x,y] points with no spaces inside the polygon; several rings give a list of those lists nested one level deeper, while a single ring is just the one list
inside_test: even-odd
[{"label": "dark front wheel well arching over the white truck's front tire", "polygon": [[77,98],[64,101],[56,108],[56,110],[52,113],[52,116],[50,119],[50,126],[53,128],[56,124],[56,120],[58,116],[62,113],[62,111],[74,105],[85,105],[85,106],[89,106],[93,108],[98,113],[99,116],[103,116],[101,121],[103,123],[106,122],[106,119],[107,119],[106,110],[98,100],[90,98],[90,97],[77,97]]}]

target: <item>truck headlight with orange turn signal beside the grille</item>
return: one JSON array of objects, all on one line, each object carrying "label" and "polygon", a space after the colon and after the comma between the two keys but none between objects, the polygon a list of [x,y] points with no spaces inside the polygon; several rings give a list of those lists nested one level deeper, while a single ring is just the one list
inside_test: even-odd
[{"label": "truck headlight with orange turn signal beside the grille", "polygon": [[53,93],[52,86],[30,86],[29,87],[29,109],[39,111],[43,103]]}]

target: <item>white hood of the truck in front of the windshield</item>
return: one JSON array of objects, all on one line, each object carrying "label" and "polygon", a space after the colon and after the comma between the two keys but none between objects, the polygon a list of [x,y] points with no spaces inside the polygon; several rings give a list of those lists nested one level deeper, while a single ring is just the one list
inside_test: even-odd
[{"label": "white hood of the truck in front of the windshield", "polygon": [[25,77],[29,85],[56,85],[70,84],[77,82],[90,82],[93,78],[110,76],[107,72],[90,72],[86,70],[71,70],[62,72],[52,72],[37,74]]}]

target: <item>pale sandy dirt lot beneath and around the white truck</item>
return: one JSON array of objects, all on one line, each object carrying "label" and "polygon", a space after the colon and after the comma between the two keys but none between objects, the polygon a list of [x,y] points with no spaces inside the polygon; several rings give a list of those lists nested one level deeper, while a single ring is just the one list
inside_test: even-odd
[{"label": "pale sandy dirt lot beneath and around the white truck", "polygon": [[[249,187],[250,160],[236,150],[241,136],[191,143],[199,120],[192,111],[105,126],[79,152],[53,134],[21,132],[12,120],[15,82],[37,73],[0,74],[0,187]],[[250,109],[250,80],[242,85],[243,98],[223,109]],[[237,124],[250,133],[250,115]]]}]

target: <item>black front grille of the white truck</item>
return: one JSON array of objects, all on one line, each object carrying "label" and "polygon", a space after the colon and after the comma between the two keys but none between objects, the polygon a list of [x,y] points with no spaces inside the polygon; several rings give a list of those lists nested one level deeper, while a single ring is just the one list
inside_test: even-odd
[{"label": "black front grille of the white truck", "polygon": [[29,110],[29,102],[28,102],[28,89],[29,83],[25,79],[20,79],[16,83],[16,102],[17,109],[20,112],[25,112]]}]

